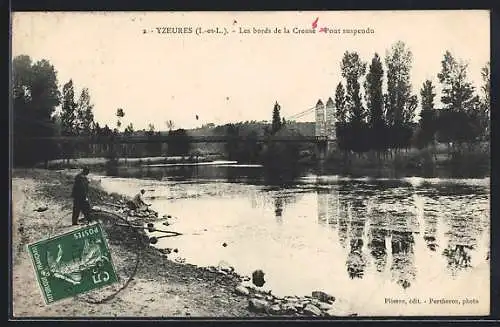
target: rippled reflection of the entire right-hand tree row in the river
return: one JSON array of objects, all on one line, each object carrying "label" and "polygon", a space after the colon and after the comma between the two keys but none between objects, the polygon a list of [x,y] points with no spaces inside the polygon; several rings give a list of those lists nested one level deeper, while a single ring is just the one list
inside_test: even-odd
[{"label": "rippled reflection of the entire right-hand tree row in the river", "polygon": [[[440,241],[447,244],[440,254],[452,275],[472,268],[477,239],[484,237],[487,225],[487,207],[479,209],[484,202],[476,198],[484,190],[457,185],[455,189],[407,182],[336,183],[317,191],[317,221],[320,225],[328,222],[336,230],[340,246],[347,250],[350,279],[362,279],[367,267],[373,266],[380,274],[389,269],[391,280],[408,289],[417,279],[415,246],[419,241],[431,253],[438,251]],[[460,196],[474,197],[480,203],[463,201],[457,206]],[[440,216],[440,206],[445,207],[446,217]],[[438,235],[439,220],[446,224],[444,235]]]}]

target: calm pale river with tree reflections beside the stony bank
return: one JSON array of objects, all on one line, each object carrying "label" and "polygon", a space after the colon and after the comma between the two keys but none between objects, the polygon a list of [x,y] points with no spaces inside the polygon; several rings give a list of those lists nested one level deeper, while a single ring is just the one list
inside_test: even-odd
[{"label": "calm pale river with tree reflections beside the stony bank", "polygon": [[[309,175],[268,185],[259,167],[234,164],[119,175],[100,176],[104,189],[148,190],[152,208],[174,217],[168,229],[184,234],[156,246],[177,248],[188,263],[262,269],[278,296],[322,290],[360,315],[489,311],[489,178]],[[401,299],[420,304],[391,302]]]}]

